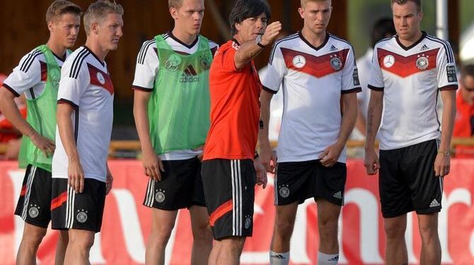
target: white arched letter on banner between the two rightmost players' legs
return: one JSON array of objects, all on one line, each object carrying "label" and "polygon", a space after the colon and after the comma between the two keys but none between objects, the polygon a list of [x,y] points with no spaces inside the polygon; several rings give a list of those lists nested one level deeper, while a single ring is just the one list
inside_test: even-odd
[{"label": "white arched letter on banner between the two rightmost players' legs", "polygon": [[[364,264],[383,264],[378,252],[378,203],[373,193],[352,188],[345,193],[346,204],[354,203],[360,213],[360,249]],[[342,226],[340,226],[342,227]],[[342,246],[342,244],[340,244]],[[340,248],[342,249],[342,247]]]}]

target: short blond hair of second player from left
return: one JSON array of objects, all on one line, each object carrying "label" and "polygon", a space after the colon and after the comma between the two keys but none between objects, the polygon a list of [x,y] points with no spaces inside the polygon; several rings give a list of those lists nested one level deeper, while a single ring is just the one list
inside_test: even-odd
[{"label": "short blond hair of second player from left", "polygon": [[84,30],[86,30],[86,35],[89,35],[92,23],[102,23],[110,13],[123,16],[122,5],[110,0],[98,0],[92,3],[86,13],[84,13]]}]

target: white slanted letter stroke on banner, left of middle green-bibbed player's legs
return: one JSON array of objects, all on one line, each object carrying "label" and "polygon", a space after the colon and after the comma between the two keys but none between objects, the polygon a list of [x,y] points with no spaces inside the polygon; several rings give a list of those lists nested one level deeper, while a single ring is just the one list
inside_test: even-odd
[{"label": "white slanted letter stroke on banner, left of middle green-bibbed player's legs", "polygon": [[112,194],[117,199],[117,208],[122,222],[122,232],[127,252],[133,261],[144,263],[145,244],[134,197],[130,191],[124,188],[114,188]]}]

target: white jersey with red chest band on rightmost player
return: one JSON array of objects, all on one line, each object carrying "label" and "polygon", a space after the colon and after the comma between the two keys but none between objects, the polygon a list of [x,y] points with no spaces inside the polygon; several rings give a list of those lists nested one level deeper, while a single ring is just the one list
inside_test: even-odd
[{"label": "white jersey with red chest band on rightmost player", "polygon": [[423,33],[405,47],[395,35],[374,47],[369,89],[383,91],[378,130],[381,150],[394,150],[441,138],[439,91],[457,89],[451,45]]}]

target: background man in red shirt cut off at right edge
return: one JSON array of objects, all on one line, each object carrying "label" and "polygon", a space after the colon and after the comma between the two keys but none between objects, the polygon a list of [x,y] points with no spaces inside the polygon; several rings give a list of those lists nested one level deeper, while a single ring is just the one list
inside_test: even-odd
[{"label": "background man in red shirt cut off at right edge", "polygon": [[[453,137],[472,137],[474,135],[474,64],[461,69],[461,81],[456,97],[456,120]],[[456,158],[474,158],[474,147],[458,145]]]}]

